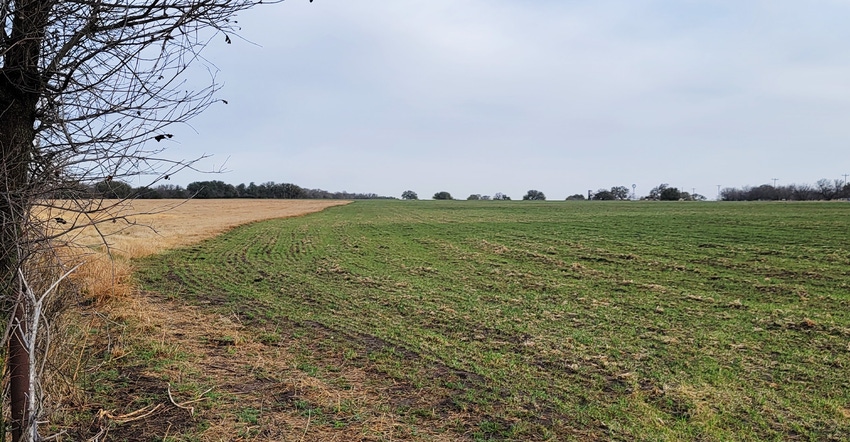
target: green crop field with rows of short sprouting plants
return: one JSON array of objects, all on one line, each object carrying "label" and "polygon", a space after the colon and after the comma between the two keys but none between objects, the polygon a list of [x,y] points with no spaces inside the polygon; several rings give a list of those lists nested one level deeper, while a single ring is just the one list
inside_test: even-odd
[{"label": "green crop field with rows of short sprouting plants", "polygon": [[848,232],[846,203],[358,201],[152,257],[139,279],[269,339],[308,334],[317,376],[338,352],[445,398],[387,404],[411,427],[847,440]]}]

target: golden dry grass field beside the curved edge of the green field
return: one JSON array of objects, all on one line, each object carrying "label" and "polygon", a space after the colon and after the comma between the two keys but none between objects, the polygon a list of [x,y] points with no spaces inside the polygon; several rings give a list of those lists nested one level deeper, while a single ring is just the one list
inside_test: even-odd
[{"label": "golden dry grass field beside the curved edge of the green field", "polygon": [[[82,263],[72,275],[85,295],[97,302],[125,298],[129,285],[130,260],[163,250],[186,246],[218,235],[236,226],[272,218],[286,218],[347,204],[339,200],[134,200],[105,202],[110,209],[99,223],[72,230],[64,240],[72,243],[64,252],[70,266]],[[62,217],[69,225],[83,222],[69,212],[52,209],[41,214]],[[70,267],[69,266],[69,267]]]}]

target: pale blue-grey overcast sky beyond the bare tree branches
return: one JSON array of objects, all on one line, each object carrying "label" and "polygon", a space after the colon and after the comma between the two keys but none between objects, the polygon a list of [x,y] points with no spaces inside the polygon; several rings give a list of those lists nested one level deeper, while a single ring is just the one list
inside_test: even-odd
[{"label": "pale blue-grey overcast sky beyond the bare tree branches", "polygon": [[[222,175],[564,199],[850,173],[848,0],[287,0],[206,56],[170,152]],[[218,41],[221,40],[221,41]],[[196,132],[197,131],[197,132]]]}]

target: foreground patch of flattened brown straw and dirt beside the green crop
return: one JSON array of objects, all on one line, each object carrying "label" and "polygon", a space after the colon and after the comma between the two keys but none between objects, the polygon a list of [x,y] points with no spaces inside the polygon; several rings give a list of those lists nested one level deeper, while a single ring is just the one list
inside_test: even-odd
[{"label": "foreground patch of flattened brown straw and dirt beside the green crop", "polygon": [[[446,405],[451,392],[420,391],[393,380],[364,365],[364,355],[347,358],[310,342],[311,336],[289,335],[285,327],[277,327],[277,334],[152,294],[140,297],[132,310],[144,314],[136,315],[126,342],[112,351],[137,351],[133,348],[145,347],[139,341],[147,339],[179,349],[181,360],[160,368],[125,367],[129,382],[118,383],[112,392],[123,404],[97,413],[77,437],[98,432],[100,440],[468,439],[455,426],[469,413]],[[133,313],[115,309],[113,314]],[[296,353],[304,351],[332,363],[333,371],[299,358]],[[167,398],[169,388],[186,384],[202,394]],[[156,407],[152,413],[142,419],[114,417],[142,409],[133,399],[143,396],[150,407],[143,412]]]}]

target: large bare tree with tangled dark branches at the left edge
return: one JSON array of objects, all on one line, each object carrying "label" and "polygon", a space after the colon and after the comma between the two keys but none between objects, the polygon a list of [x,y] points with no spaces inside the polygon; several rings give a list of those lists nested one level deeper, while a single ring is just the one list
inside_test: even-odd
[{"label": "large bare tree with tangled dark branches at the left edge", "polygon": [[[156,184],[193,167],[163,156],[168,128],[224,102],[200,52],[230,43],[235,15],[260,3],[0,2],[0,303],[13,441],[40,437],[38,324],[71,270],[54,259],[56,241],[114,219],[85,189],[139,176]],[[208,81],[195,84],[192,66]],[[43,216],[56,207],[72,215]]]}]

